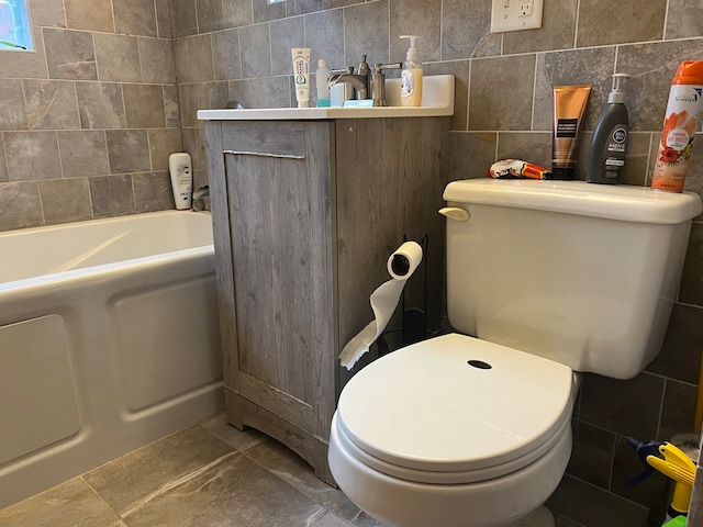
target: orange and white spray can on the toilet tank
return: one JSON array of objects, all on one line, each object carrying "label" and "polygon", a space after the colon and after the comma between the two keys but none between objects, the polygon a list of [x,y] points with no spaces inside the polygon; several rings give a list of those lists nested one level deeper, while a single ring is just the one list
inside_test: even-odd
[{"label": "orange and white spray can on the toilet tank", "polygon": [[703,110],[703,60],[681,63],[671,82],[651,188],[682,192]]}]

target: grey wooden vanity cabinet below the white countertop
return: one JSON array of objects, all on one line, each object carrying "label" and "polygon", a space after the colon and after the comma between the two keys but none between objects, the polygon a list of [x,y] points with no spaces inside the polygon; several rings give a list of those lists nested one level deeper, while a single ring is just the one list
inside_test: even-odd
[{"label": "grey wooden vanity cabinet below the white countertop", "polygon": [[[442,152],[449,117],[209,121],[227,421],[299,453],[322,480],[344,345],[403,242],[428,236],[405,309],[442,315]],[[368,355],[368,354],[367,354]],[[354,371],[372,357],[365,357]]]}]

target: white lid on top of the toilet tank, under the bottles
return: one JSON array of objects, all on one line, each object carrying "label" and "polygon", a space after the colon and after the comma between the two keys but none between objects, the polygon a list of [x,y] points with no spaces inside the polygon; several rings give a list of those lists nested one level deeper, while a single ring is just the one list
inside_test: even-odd
[{"label": "white lid on top of the toilet tank, under the bottles", "polygon": [[467,179],[450,182],[447,202],[562,212],[624,222],[677,224],[703,211],[694,192],[665,192],[631,184],[522,179]]}]

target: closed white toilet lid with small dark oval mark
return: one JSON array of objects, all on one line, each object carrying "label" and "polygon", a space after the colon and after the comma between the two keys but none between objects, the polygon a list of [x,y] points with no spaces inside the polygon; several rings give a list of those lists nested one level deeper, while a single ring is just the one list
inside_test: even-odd
[{"label": "closed white toilet lid with small dark oval mark", "polygon": [[339,395],[336,422],[381,471],[479,471],[484,480],[544,452],[571,417],[572,392],[563,365],[451,334],[359,371]]}]

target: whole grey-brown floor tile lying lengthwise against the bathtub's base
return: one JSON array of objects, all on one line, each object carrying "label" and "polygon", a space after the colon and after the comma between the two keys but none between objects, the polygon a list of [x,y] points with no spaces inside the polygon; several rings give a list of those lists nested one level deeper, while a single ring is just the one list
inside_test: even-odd
[{"label": "whole grey-brown floor tile lying lengthwise against the bathtub's base", "polygon": [[92,470],[83,479],[124,515],[223,456],[241,455],[194,425]]}]

